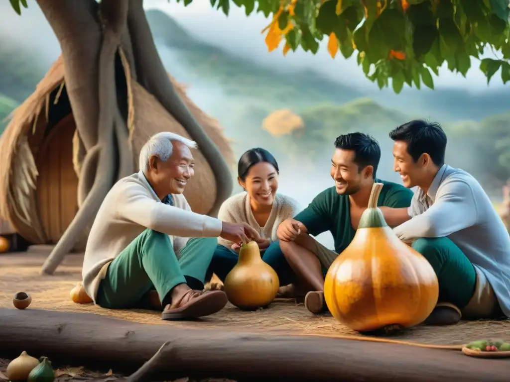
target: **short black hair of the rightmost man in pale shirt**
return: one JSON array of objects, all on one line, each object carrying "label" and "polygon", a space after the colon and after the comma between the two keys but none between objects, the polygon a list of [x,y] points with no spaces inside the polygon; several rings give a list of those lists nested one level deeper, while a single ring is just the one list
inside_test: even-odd
[{"label": "short black hair of the rightmost man in pale shirt", "polygon": [[415,162],[427,153],[436,166],[441,167],[445,163],[446,134],[437,122],[416,119],[404,123],[390,132],[390,138],[407,142],[407,152]]}]

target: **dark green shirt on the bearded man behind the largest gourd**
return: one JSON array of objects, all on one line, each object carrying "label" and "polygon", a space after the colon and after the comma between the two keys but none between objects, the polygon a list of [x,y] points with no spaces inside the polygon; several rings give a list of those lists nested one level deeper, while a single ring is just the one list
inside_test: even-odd
[{"label": "dark green shirt on the bearded man behind the largest gourd", "polygon": [[[409,188],[379,179],[376,179],[376,182],[384,184],[377,206],[405,208],[411,205],[413,192]],[[339,195],[335,186],[326,188],[317,195],[294,219],[303,223],[308,233],[313,236],[331,232],[335,239],[336,253],[345,250],[356,233],[350,220],[349,196]]]}]

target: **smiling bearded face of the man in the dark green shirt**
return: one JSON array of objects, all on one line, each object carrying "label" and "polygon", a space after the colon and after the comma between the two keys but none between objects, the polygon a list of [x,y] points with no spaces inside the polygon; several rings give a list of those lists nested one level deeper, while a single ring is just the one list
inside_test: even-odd
[{"label": "smiling bearded face of the man in the dark green shirt", "polygon": [[365,167],[362,171],[354,162],[353,150],[336,149],[331,158],[331,178],[335,180],[337,193],[340,195],[352,195],[357,193],[363,186],[364,181],[372,177],[372,166]]}]

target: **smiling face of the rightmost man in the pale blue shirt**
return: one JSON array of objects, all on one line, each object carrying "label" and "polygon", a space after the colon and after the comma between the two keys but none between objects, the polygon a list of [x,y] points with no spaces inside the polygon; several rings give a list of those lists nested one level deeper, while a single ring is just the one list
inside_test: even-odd
[{"label": "smiling face of the rightmost man in the pale blue shirt", "polygon": [[[426,175],[426,159],[418,158],[415,162],[409,152],[407,152],[407,142],[395,141],[393,144],[393,171],[399,173],[402,183],[407,188],[413,188],[422,183]],[[425,160],[423,160],[425,159]]]}]

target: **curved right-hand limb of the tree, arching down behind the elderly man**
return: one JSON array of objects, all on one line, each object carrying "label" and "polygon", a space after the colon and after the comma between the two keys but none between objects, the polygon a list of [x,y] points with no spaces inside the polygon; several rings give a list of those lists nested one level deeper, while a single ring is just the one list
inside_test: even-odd
[{"label": "curved right-hand limb of the tree, arching down behind the elderly man", "polygon": [[230,168],[216,145],[175,92],[152,38],[143,10],[143,0],[130,0],[129,8],[127,24],[133,44],[138,82],[154,95],[166,111],[185,128],[209,162],[216,178],[217,188],[216,200],[209,214],[216,216],[223,201],[232,193],[233,183]]}]

